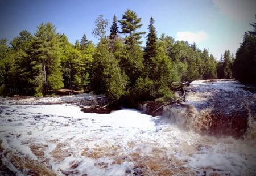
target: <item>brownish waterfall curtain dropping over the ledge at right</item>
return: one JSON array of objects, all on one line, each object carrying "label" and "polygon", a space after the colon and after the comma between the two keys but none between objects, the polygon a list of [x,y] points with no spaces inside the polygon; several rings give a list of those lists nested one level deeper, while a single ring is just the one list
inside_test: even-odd
[{"label": "brownish waterfall curtain dropping over the ledge at right", "polygon": [[167,106],[163,109],[163,117],[183,130],[218,137],[241,138],[248,125],[247,114],[225,115],[210,110],[197,111],[191,105]]}]

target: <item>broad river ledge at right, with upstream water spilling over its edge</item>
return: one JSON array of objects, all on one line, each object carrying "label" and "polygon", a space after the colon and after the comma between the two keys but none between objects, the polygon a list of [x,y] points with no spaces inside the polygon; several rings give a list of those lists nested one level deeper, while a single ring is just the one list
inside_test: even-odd
[{"label": "broad river ledge at right, with upstream water spilling over its edge", "polygon": [[191,91],[181,104],[155,111],[163,104],[144,102],[139,109],[154,116],[162,115],[184,130],[203,135],[243,138],[250,131],[256,138],[256,94],[251,88],[236,81],[214,84],[196,81],[187,89]]}]

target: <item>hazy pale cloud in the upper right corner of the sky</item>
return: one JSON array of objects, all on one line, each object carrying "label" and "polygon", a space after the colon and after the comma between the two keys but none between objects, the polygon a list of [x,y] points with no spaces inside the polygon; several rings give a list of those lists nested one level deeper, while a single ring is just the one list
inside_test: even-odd
[{"label": "hazy pale cloud in the upper right corner of the sky", "polygon": [[213,3],[220,8],[222,14],[231,19],[254,21],[255,0],[213,0]]}]

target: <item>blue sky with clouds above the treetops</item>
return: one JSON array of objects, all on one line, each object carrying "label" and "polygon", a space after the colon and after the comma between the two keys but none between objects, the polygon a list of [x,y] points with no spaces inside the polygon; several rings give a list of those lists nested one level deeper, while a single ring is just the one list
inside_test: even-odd
[{"label": "blue sky with clouds above the treetops", "polygon": [[84,34],[97,44],[92,35],[95,19],[102,14],[110,27],[113,16],[122,19],[128,8],[142,18],[138,31],[148,32],[152,16],[158,37],[164,33],[175,41],[196,42],[216,59],[227,49],[236,54],[244,32],[253,30],[249,23],[256,22],[255,0],[0,0],[0,38],[10,42],[24,29],[34,35],[37,26],[51,22],[72,44]]}]

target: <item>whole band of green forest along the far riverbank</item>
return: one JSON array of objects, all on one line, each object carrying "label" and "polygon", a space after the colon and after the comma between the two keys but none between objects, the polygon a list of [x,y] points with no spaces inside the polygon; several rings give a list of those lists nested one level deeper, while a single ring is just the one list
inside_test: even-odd
[{"label": "whole band of green forest along the far riverbank", "polygon": [[0,94],[42,97],[72,89],[133,104],[156,98],[168,101],[180,83],[196,79],[235,78],[256,84],[256,23],[251,24],[254,31],[245,32],[236,55],[225,50],[220,61],[195,43],[165,34],[158,38],[152,17],[147,32],[139,31],[142,25],[136,12],[128,9],[120,20],[113,16],[110,28],[109,21],[98,16],[92,30],[100,40],[97,45],[85,34],[73,45],[50,22],[40,24],[34,35],[21,31],[10,46],[3,38]]}]

